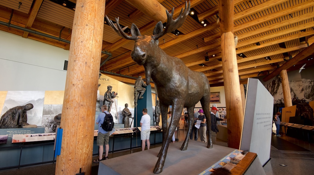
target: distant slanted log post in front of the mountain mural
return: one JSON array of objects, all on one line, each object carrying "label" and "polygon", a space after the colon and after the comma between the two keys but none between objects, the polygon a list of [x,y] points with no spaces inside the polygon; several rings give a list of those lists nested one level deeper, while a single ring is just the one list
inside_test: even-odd
[{"label": "distant slanted log post in front of the mountain mural", "polygon": [[284,107],[292,106],[291,92],[287,70],[280,71],[282,92],[284,95]]}]

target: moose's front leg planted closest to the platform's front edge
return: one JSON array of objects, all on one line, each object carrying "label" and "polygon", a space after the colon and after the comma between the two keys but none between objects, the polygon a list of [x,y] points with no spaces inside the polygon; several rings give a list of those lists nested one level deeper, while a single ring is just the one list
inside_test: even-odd
[{"label": "moose's front leg planted closest to the platform's front edge", "polygon": [[[182,100],[181,100],[182,101]],[[162,172],[162,168],[164,167],[164,163],[165,163],[165,159],[166,159],[166,156],[167,156],[167,151],[168,151],[168,148],[169,148],[169,145],[170,145],[170,142],[171,142],[171,138],[172,138],[172,135],[174,134],[175,130],[176,130],[176,127],[181,119],[181,113],[182,113],[182,109],[183,109],[183,103],[182,104],[177,104],[175,103],[175,105],[172,105],[173,106],[173,111],[172,111],[172,119],[171,119],[171,122],[170,122],[170,126],[168,128],[168,131],[167,131],[167,134],[166,134],[166,137],[163,138],[163,145],[162,145],[162,148],[159,152],[159,158],[158,158],[158,161],[155,165],[155,168],[154,168],[154,173],[155,174],[159,174]],[[163,118],[164,120],[164,118]],[[164,122],[164,121],[163,121]]]}]

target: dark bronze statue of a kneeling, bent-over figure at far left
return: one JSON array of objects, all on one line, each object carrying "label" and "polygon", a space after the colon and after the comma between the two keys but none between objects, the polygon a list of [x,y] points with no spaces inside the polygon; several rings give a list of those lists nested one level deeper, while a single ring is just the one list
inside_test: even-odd
[{"label": "dark bronze statue of a kneeling, bent-over figure at far left", "polygon": [[33,109],[34,106],[28,103],[24,106],[16,106],[5,112],[0,119],[0,128],[22,128],[29,125],[27,123],[26,111]]}]

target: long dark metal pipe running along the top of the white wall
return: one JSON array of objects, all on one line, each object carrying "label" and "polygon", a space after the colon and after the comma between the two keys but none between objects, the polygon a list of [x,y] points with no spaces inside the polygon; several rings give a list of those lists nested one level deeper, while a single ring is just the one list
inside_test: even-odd
[{"label": "long dark metal pipe running along the top of the white wall", "polygon": [[[12,27],[14,29],[19,29],[19,30],[23,30],[25,32],[29,32],[29,33],[32,33],[32,34],[37,34],[37,35],[40,35],[40,36],[43,36],[43,37],[46,37],[46,38],[50,38],[50,39],[53,39],[53,40],[58,40],[58,41],[61,41],[61,42],[64,42],[64,43],[68,43],[70,44],[71,41],[69,40],[64,40],[62,38],[58,38],[56,36],[52,36],[52,35],[49,35],[49,34],[45,34],[45,33],[41,33],[41,32],[38,32],[36,30],[32,30],[32,29],[28,29],[28,28],[25,28],[25,27],[20,27],[18,25],[14,25],[14,24],[10,24],[10,23],[6,23],[6,22],[3,22],[3,21],[0,21],[0,24],[1,25],[5,25],[7,27]],[[110,57],[112,56],[112,54],[110,52],[106,52],[106,51],[101,51],[102,54],[106,54],[106,55],[109,55]]]}]

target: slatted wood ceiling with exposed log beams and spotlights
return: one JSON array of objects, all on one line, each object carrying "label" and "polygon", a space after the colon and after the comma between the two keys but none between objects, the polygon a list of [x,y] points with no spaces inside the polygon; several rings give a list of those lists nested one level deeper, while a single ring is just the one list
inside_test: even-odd
[{"label": "slatted wood ceiling with exposed log beams and spotlights", "polygon": [[[76,0],[70,1],[76,3]],[[20,8],[18,8],[19,2],[22,2]],[[167,10],[171,10],[173,7],[177,8],[184,3],[181,0],[159,0],[159,2]],[[223,82],[220,28],[216,23],[219,0],[201,0],[196,5],[195,2],[198,0],[191,0],[192,8],[197,11],[200,18],[206,19],[209,24],[203,27],[188,16],[185,23],[178,29],[183,35],[176,36],[168,33],[159,39],[159,45],[168,55],[177,56],[192,70],[204,72],[208,76],[210,84],[219,85]],[[234,34],[239,38],[236,53],[244,53],[246,56],[246,58],[237,56],[241,79],[256,77],[260,71],[263,73],[259,76],[273,72],[277,66],[285,63],[284,59],[289,60],[304,50],[307,45],[312,44],[314,0],[234,0],[234,3]],[[14,9],[11,24],[25,27],[30,20],[29,15],[34,4],[33,0],[1,0],[0,21],[7,23],[12,9]],[[133,22],[142,30],[143,26],[152,23],[149,30],[141,32],[147,35],[152,34],[156,22],[126,1],[106,0],[106,9],[108,11],[105,13],[110,19],[119,17],[119,23],[124,26],[131,26]],[[208,14],[210,15],[208,16]],[[73,10],[50,0],[44,0],[30,29],[59,37],[60,31],[64,27],[61,38],[71,40],[73,18]],[[23,31],[7,26],[1,25],[0,30],[23,35]],[[69,49],[67,43],[57,40],[35,34],[28,34],[26,37]],[[305,37],[305,41],[300,42],[302,37]],[[100,70],[130,77],[145,76],[143,66],[135,64],[130,56],[134,41],[127,41],[124,45],[116,44],[121,40],[120,36],[104,24],[102,48],[109,50],[112,57],[100,67]],[[256,45],[257,42],[260,45]],[[279,45],[279,43],[283,44]],[[112,46],[116,45],[117,47],[113,49]],[[286,54],[284,56],[284,53],[288,53],[288,56]],[[213,54],[215,56],[212,56]],[[204,60],[207,55],[209,61]],[[271,60],[267,61],[265,56],[269,56]],[[107,55],[103,55],[100,58],[101,62],[106,58]],[[307,65],[313,64],[313,61],[309,61]],[[289,70],[300,68],[304,61],[300,62],[299,65],[291,67]],[[198,66],[201,63],[205,66]]]}]

